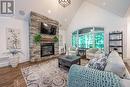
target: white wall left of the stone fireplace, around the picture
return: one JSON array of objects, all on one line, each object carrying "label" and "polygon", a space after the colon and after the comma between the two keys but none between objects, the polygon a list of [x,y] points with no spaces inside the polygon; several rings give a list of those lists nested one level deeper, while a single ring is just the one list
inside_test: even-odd
[{"label": "white wall left of the stone fireplace, around the picture", "polygon": [[24,55],[21,55],[20,62],[25,62],[29,60],[29,27],[28,22],[23,20],[18,20],[10,17],[0,17],[0,57],[4,52],[7,52],[7,37],[6,29],[18,29],[21,31],[21,51]]}]

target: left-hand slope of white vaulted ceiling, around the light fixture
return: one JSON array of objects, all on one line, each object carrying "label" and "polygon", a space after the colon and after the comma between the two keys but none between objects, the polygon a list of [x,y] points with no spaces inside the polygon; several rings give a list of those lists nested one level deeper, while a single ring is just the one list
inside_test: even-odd
[{"label": "left-hand slope of white vaulted ceiling, around the light fixture", "polygon": [[[20,19],[29,18],[30,11],[37,12],[44,16],[50,17],[59,21],[62,28],[67,28],[83,0],[71,0],[71,4],[63,8],[58,0],[15,0],[16,17]],[[25,12],[25,15],[20,15],[19,11]]]}]

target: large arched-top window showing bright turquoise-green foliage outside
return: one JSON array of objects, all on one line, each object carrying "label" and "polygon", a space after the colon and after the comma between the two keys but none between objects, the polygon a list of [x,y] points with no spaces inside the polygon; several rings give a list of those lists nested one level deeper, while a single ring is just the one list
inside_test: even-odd
[{"label": "large arched-top window showing bright turquoise-green foliage outside", "polygon": [[79,48],[104,48],[104,28],[89,27],[72,33],[72,46]]}]

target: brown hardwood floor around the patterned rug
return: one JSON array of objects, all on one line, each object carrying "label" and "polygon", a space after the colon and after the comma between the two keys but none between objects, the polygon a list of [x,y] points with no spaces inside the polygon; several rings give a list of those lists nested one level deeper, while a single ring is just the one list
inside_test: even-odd
[{"label": "brown hardwood floor around the patterned rug", "polygon": [[[21,68],[39,63],[26,62],[19,64],[16,68],[12,68],[11,66],[0,68],[0,87],[26,87],[26,83],[21,73]],[[127,63],[125,64],[130,72],[130,67]]]}]

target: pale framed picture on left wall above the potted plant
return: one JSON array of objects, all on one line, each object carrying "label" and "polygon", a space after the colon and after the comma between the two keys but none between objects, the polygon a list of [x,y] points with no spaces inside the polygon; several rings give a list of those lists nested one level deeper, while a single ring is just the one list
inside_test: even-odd
[{"label": "pale framed picture on left wall above the potted plant", "polygon": [[7,49],[21,49],[21,35],[19,29],[7,28]]}]

